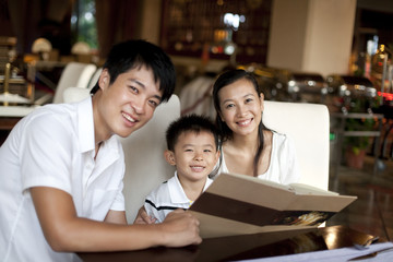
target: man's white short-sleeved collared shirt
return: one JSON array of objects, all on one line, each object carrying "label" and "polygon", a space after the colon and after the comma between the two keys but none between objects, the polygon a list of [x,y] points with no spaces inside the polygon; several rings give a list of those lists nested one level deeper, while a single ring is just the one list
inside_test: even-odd
[{"label": "man's white short-sleeved collared shirt", "polygon": [[116,136],[96,160],[92,99],[48,105],[22,119],[0,148],[0,261],[72,261],[46,242],[29,194],[52,187],[72,195],[79,216],[103,221],[124,210],[124,159]]}]

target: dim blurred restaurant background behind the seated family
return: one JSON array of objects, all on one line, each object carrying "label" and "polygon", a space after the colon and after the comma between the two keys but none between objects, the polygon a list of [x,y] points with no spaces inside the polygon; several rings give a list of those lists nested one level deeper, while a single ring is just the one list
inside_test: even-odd
[{"label": "dim blurred restaurant background behind the seated family", "polygon": [[[228,68],[251,72],[267,102],[324,105],[325,189],[358,198],[326,226],[393,240],[393,1],[0,0],[0,143],[35,108],[67,102],[68,87],[92,88],[114,44],[142,38],[172,59],[180,115],[214,119],[211,87]],[[301,132],[312,131],[306,123]]]}]

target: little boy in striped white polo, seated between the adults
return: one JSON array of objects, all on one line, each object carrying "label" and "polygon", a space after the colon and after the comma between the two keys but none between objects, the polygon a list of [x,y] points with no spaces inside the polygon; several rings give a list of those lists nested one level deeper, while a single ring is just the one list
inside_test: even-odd
[{"label": "little boy in striped white polo, seated between the adults", "polygon": [[177,209],[187,210],[213,182],[207,178],[218,156],[218,134],[207,118],[190,115],[174,121],[166,132],[165,159],[176,166],[172,178],[151,192],[144,209],[155,223]]}]

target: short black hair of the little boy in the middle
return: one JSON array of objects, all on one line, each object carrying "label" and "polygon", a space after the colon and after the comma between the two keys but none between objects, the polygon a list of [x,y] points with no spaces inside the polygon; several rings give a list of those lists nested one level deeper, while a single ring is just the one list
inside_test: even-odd
[{"label": "short black hair of the little boy in the middle", "polygon": [[195,114],[187,115],[172,121],[166,131],[167,147],[169,151],[175,150],[175,145],[179,136],[184,132],[200,133],[202,131],[210,132],[214,136],[215,148],[218,150],[218,131],[212,120],[204,116]]}]

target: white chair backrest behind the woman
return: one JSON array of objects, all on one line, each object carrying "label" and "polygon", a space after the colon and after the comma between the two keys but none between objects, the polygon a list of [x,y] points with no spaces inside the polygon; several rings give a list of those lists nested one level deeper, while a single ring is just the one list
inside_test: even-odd
[{"label": "white chair backrest behind the woman", "polygon": [[301,179],[324,190],[329,189],[330,117],[322,104],[264,102],[264,124],[293,138]]}]

